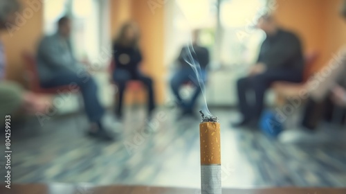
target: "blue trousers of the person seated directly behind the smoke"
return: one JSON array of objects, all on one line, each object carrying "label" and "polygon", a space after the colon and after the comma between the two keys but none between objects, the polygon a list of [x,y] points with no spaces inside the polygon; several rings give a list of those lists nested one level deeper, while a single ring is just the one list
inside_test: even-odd
[{"label": "blue trousers of the person seated directly behind the smoke", "polygon": [[[201,70],[201,74],[203,82],[206,82],[206,71]],[[196,87],[190,102],[184,102],[179,94],[179,89],[185,82],[192,82]],[[184,111],[192,111],[199,94],[201,94],[201,87],[199,87],[199,82],[194,71],[190,67],[179,69],[179,71],[176,71],[174,74],[170,84],[173,94],[176,96],[177,103],[181,105]]]}]

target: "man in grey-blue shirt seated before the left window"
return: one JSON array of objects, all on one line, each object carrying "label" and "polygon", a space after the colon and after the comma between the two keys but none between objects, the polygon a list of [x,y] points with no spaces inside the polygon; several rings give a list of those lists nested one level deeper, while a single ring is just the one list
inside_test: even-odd
[{"label": "man in grey-blue shirt seated before the left window", "polygon": [[111,140],[111,135],[102,125],[104,108],[98,99],[98,86],[86,69],[75,60],[71,42],[71,19],[62,17],[57,22],[57,33],[46,36],[39,43],[37,69],[43,88],[75,84],[80,87],[84,108],[91,127],[89,135],[102,140]]}]

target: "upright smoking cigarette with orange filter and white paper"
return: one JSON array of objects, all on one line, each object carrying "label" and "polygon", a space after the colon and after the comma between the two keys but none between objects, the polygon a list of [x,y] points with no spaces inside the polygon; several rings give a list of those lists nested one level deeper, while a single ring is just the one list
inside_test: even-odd
[{"label": "upright smoking cigarette with orange filter and white paper", "polygon": [[220,123],[217,117],[202,115],[199,124],[201,146],[201,194],[221,194]]}]

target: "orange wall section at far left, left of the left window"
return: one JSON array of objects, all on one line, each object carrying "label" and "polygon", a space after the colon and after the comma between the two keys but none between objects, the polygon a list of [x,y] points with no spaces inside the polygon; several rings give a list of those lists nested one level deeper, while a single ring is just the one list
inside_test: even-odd
[{"label": "orange wall section at far left, left of the left window", "polygon": [[[19,13],[23,15],[23,11],[30,6],[26,0],[21,1],[23,10]],[[43,9],[33,11],[33,16],[27,18],[25,23],[12,33],[12,37],[7,30],[3,31],[1,36],[6,52],[6,76],[10,80],[17,80],[21,83],[24,83],[24,64],[21,60],[21,52],[35,53],[37,42],[43,33]]]}]

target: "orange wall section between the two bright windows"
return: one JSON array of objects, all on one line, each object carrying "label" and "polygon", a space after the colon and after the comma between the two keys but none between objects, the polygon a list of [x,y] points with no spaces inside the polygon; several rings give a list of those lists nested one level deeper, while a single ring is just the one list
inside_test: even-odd
[{"label": "orange wall section between the two bright windows", "polygon": [[[160,1],[155,1],[160,2]],[[140,28],[140,48],[143,53],[141,67],[153,78],[156,102],[163,103],[165,78],[164,69],[164,5],[152,12],[147,0],[111,0],[111,35],[116,35],[119,26],[129,19]]]}]

